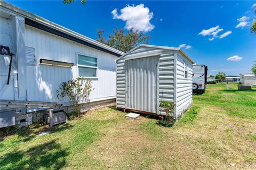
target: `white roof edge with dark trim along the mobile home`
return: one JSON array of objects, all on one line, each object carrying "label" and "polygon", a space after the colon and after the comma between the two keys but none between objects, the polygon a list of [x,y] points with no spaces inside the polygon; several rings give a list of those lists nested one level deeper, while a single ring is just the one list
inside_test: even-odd
[{"label": "white roof edge with dark trim along the mobile home", "polygon": [[3,7],[5,10],[21,15],[22,17],[25,17],[25,24],[42,29],[44,31],[47,31],[49,33],[70,39],[71,41],[75,41],[77,43],[90,46],[93,48],[96,48],[100,51],[107,52],[116,56],[121,56],[124,53],[122,51],[116,50],[113,47],[110,47],[108,45],[102,44],[100,42],[95,41],[94,39],[91,39],[89,37],[86,37],[82,34],[76,33],[75,31],[72,31],[68,28],[62,27],[58,25],[57,23],[51,22],[49,20],[46,20],[42,17],[39,17],[38,15],[35,15],[33,13],[30,13],[26,10],[22,10],[17,6],[14,6],[12,4],[9,4],[4,1],[0,1],[0,6]]}]

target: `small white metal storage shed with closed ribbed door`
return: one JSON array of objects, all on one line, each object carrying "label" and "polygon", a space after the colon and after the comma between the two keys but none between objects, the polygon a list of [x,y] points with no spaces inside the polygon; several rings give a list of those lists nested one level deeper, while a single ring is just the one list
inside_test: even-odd
[{"label": "small white metal storage shed with closed ribbed door", "polygon": [[117,108],[165,115],[159,103],[171,101],[177,119],[193,103],[194,62],[180,48],[142,44],[116,62]]}]

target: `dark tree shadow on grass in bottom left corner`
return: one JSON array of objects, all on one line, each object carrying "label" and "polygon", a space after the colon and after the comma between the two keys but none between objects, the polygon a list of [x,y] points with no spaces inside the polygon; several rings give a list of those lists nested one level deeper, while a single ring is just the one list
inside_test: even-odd
[{"label": "dark tree shadow on grass in bottom left corner", "polygon": [[66,165],[68,152],[55,140],[26,151],[15,150],[0,159],[3,169],[60,169]]}]

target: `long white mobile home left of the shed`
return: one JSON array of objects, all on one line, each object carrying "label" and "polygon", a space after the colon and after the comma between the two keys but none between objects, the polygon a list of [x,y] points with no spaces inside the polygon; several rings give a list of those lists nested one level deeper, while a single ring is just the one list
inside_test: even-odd
[{"label": "long white mobile home left of the shed", "polygon": [[60,84],[77,77],[91,79],[90,102],[115,100],[115,60],[123,52],[9,3],[0,7],[1,101],[59,103]]}]

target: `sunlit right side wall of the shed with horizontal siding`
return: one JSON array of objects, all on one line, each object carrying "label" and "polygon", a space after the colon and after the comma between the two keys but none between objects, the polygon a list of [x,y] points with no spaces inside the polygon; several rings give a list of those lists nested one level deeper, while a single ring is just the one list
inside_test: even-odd
[{"label": "sunlit right side wall of the shed with horizontal siding", "polygon": [[[188,78],[185,78],[185,63],[188,63]],[[183,57],[180,52],[177,52],[177,84],[176,84],[176,117],[180,117],[183,111],[188,109],[193,102],[192,99],[192,80],[193,66],[190,61]]]}]

